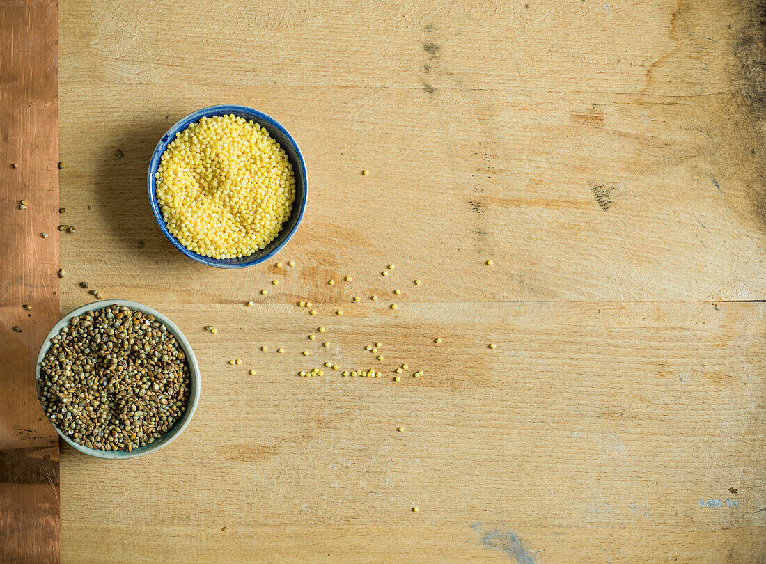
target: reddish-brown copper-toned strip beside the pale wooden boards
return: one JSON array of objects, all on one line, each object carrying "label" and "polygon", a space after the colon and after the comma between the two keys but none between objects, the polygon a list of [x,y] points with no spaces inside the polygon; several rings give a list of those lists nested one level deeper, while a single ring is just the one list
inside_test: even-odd
[{"label": "reddish-brown copper-toned strip beside the pale wooden boards", "polygon": [[0,0],[0,562],[59,561],[58,435],[34,389],[60,308],[57,45],[56,2]]}]

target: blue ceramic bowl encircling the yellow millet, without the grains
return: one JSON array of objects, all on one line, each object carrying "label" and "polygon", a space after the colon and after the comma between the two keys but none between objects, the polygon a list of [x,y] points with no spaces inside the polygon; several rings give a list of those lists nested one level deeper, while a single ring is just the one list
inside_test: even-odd
[{"label": "blue ceramic bowl encircling the yellow millet, without the grains", "polygon": [[[280,146],[285,150],[287,157],[290,159],[290,162],[293,163],[293,172],[295,173],[295,202],[293,202],[293,212],[290,214],[290,218],[288,218],[282,226],[282,231],[280,231],[280,234],[277,235],[276,239],[267,244],[266,248],[261,249],[260,251],[255,251],[253,254],[250,254],[247,257],[203,257],[201,254],[197,254],[194,251],[189,251],[188,248],[185,248],[180,242],[178,242],[178,239],[173,237],[170,231],[168,231],[168,226],[165,225],[165,220],[162,219],[162,211],[160,211],[159,204],[157,203],[157,191],[154,175],[159,168],[159,161],[162,159],[162,153],[165,152],[165,149],[167,149],[169,143],[175,139],[176,133],[185,130],[189,124],[195,123],[196,121],[201,120],[203,117],[225,116],[230,113],[233,113],[237,117],[242,117],[245,120],[253,120],[258,125],[265,127],[270,136],[276,139],[277,143],[279,143]],[[300,225],[300,221],[303,219],[303,212],[306,211],[306,191],[308,189],[309,181],[306,177],[306,162],[303,161],[303,154],[298,148],[298,143],[296,143],[295,139],[293,139],[293,136],[291,136],[290,133],[287,133],[287,130],[279,122],[277,122],[277,120],[274,120],[273,117],[267,116],[265,113],[253,110],[253,108],[248,108],[245,106],[224,105],[202,108],[201,110],[197,110],[195,113],[190,113],[184,119],[175,123],[175,125],[172,126],[168,132],[162,136],[162,139],[159,140],[157,147],[152,153],[152,160],[149,162],[149,177],[147,182],[149,184],[149,204],[152,205],[152,213],[154,214],[154,218],[157,220],[157,225],[159,225],[162,233],[165,234],[165,237],[168,238],[168,241],[170,241],[172,245],[178,249],[178,251],[181,251],[189,258],[193,258],[195,261],[201,262],[202,264],[208,264],[208,266],[211,267],[242,268],[250,267],[254,264],[267,261],[270,259],[270,257],[273,257],[275,254],[277,254],[280,249],[287,244],[287,241],[290,241],[290,238],[292,238],[293,234],[295,234],[297,231],[298,225]]]}]

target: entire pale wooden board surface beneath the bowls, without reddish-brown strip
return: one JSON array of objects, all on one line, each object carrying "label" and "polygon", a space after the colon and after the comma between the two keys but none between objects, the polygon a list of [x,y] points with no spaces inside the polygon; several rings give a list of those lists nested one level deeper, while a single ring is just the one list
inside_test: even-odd
[{"label": "entire pale wooden board surface beneath the bowls, without reddish-brown strip", "polygon": [[[146,303],[203,378],[156,454],[62,445],[62,561],[766,558],[764,2],[60,11],[61,309]],[[293,268],[152,218],[155,143],[216,103],[303,149]]]}]

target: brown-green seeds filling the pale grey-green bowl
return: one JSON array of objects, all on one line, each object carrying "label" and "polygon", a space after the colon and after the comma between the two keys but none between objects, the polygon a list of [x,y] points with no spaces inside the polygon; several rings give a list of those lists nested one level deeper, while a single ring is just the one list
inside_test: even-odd
[{"label": "brown-green seeds filling the pale grey-green bowl", "polygon": [[191,386],[175,336],[153,316],[116,305],[73,317],[51,339],[39,378],[53,424],[102,451],[160,438],[185,412]]}]

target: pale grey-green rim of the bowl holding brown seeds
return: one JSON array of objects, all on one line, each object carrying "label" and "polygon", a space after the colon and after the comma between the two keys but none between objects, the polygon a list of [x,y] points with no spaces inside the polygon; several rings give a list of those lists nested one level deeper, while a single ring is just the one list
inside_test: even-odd
[{"label": "pale grey-green rim of the bowl holding brown seeds", "polygon": [[53,425],[53,428],[56,429],[56,432],[59,434],[59,436],[63,438],[67,444],[70,444],[72,447],[77,449],[77,451],[80,451],[84,454],[90,454],[90,456],[97,458],[106,458],[108,460],[124,460],[126,458],[135,458],[144,454],[159,451],[160,448],[167,446],[168,444],[172,443],[172,441],[175,441],[175,438],[182,434],[184,429],[188,426],[189,421],[191,421],[191,418],[194,416],[194,413],[197,409],[197,404],[199,403],[201,378],[199,375],[199,364],[197,362],[197,357],[195,356],[194,351],[191,349],[191,344],[188,342],[188,339],[186,339],[181,330],[178,329],[178,326],[169,320],[168,317],[162,315],[162,313],[159,313],[157,310],[153,310],[149,306],[145,306],[142,303],[132,302],[129,300],[100,300],[97,302],[86,303],[84,306],[75,308],[66,315],[62,316],[61,319],[57,321],[57,323],[51,328],[50,331],[48,331],[47,335],[45,336],[45,339],[40,346],[37,362],[34,365],[34,388],[37,390],[38,402],[40,402],[44,413],[45,408],[42,407],[42,399],[40,397],[40,365],[48,350],[51,349],[51,338],[56,336],[64,326],[69,325],[72,317],[79,316],[81,313],[85,313],[88,310],[103,310],[103,308],[113,305],[118,305],[119,307],[129,307],[132,310],[138,310],[142,313],[148,313],[149,315],[154,316],[155,320],[166,326],[170,333],[172,333],[172,335],[178,339],[178,342],[181,343],[182,349],[184,350],[184,353],[186,353],[186,361],[188,362],[189,366],[189,378],[191,379],[191,390],[189,392],[188,403],[186,404],[186,411],[184,412],[184,415],[182,415],[181,418],[176,421],[175,425],[173,425],[169,431],[163,434],[162,437],[157,439],[155,442],[152,444],[147,444],[144,447],[134,448],[133,451],[130,452],[101,451],[97,448],[90,448],[77,444],[71,438],[69,438],[69,436],[65,434],[64,431],[61,431],[61,428],[59,428],[58,425],[55,425],[54,422],[47,417],[47,414],[45,414],[45,419],[48,421],[48,423]]}]

